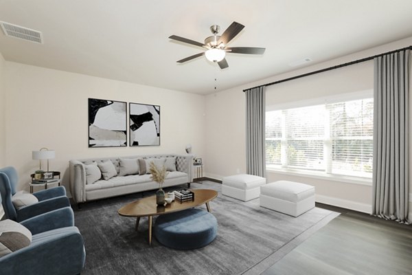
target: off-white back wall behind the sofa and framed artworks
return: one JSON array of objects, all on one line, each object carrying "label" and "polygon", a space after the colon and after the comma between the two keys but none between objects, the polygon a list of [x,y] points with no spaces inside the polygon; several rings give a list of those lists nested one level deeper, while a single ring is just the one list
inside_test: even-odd
[{"label": "off-white back wall behind the sofa and framed artworks", "polygon": [[[5,157],[19,171],[19,189],[27,190],[38,168],[32,151],[42,147],[56,150],[50,170],[65,173],[65,186],[69,159],[185,153],[188,143],[204,154],[204,96],[8,61],[5,70]],[[87,98],[160,105],[161,146],[89,148]]]}]

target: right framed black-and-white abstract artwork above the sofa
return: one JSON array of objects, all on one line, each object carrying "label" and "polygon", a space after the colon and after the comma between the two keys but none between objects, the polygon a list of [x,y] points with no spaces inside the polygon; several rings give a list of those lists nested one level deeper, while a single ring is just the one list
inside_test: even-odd
[{"label": "right framed black-and-white abstract artwork above the sofa", "polygon": [[160,145],[160,106],[129,103],[130,146]]}]

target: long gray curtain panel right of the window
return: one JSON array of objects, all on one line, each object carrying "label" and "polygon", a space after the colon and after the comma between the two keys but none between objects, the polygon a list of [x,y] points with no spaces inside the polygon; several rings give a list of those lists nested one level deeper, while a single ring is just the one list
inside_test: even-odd
[{"label": "long gray curtain panel right of the window", "polygon": [[408,222],[409,50],[374,59],[372,214]]}]

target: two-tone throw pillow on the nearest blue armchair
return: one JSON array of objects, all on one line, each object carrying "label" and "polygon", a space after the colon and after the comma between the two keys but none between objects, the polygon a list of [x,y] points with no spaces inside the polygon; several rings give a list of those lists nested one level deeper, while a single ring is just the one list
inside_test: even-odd
[{"label": "two-tone throw pillow on the nearest blue armchair", "polygon": [[32,243],[32,232],[11,219],[0,221],[0,257]]}]

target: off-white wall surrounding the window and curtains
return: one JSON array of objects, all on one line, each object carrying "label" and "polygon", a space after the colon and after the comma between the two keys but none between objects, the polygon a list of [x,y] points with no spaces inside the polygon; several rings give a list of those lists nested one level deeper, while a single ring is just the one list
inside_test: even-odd
[{"label": "off-white wall surrounding the window and curtains", "polygon": [[[213,144],[213,146],[207,146],[207,151],[205,153],[205,175],[221,179],[227,175],[246,173],[246,100],[244,93],[242,92],[243,89],[271,83],[276,80],[297,76],[307,72],[313,72],[317,69],[347,63],[367,56],[374,56],[375,54],[396,50],[409,45],[412,45],[412,37],[303,69],[296,69],[255,83],[248,83],[240,87],[220,91],[217,94],[208,95],[206,98],[206,140],[207,144]],[[347,74],[347,76],[350,76],[350,81],[352,81],[354,85],[351,87],[351,85],[347,85],[347,83],[339,83],[339,81],[346,80],[336,80],[336,89],[333,91],[323,89],[323,87],[326,86],[324,79],[335,79],[336,76],[339,76],[340,74]],[[327,78],[327,76],[329,78]],[[330,85],[330,83],[327,84]],[[373,62],[368,61],[366,63],[316,74],[308,78],[300,78],[279,85],[273,85],[267,89],[266,101],[271,102],[271,104],[276,104],[293,100],[304,100],[319,96],[328,96],[332,93],[345,93],[353,89],[353,87],[358,87],[360,90],[373,89]],[[411,152],[410,155],[412,159]],[[315,186],[317,201],[320,202],[363,212],[369,212],[371,209],[371,186],[297,175],[285,175],[284,173],[276,173],[273,171],[267,171],[267,177],[268,182],[286,179],[311,184]],[[412,184],[410,192],[412,192]],[[412,199],[412,196],[410,197]],[[412,203],[410,203],[410,214],[412,213],[411,206]]]}]

